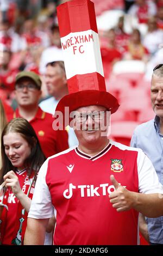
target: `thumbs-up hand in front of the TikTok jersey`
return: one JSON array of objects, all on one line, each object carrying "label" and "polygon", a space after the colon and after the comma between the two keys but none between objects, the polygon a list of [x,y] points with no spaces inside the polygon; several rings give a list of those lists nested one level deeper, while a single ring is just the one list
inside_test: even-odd
[{"label": "thumbs-up hand in front of the TikTok jersey", "polygon": [[118,212],[128,211],[133,208],[134,192],[131,192],[125,187],[119,185],[114,175],[110,175],[110,181],[115,187],[115,191],[109,195],[112,207]]}]

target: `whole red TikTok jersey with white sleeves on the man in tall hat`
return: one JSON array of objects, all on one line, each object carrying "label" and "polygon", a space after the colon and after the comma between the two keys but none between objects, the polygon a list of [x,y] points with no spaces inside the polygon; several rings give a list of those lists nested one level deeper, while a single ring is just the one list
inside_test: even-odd
[{"label": "whole red TikTok jersey with white sleeves on the man in tall hat", "polygon": [[129,191],[161,192],[152,163],[141,149],[111,142],[93,157],[69,149],[43,163],[28,217],[56,213],[54,245],[137,245],[139,213],[112,208],[111,174]]}]

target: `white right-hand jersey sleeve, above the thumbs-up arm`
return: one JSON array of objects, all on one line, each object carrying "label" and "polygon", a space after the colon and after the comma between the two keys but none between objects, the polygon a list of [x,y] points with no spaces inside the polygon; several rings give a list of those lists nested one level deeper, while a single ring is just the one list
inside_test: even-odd
[{"label": "white right-hand jersey sleeve, above the thumbs-up arm", "polygon": [[163,187],[159,182],[153,164],[141,149],[139,149],[137,156],[137,172],[140,193],[163,193]]}]

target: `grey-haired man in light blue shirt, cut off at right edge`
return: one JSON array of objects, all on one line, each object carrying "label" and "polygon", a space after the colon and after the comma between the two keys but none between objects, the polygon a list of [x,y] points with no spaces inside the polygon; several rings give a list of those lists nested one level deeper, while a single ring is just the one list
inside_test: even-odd
[{"label": "grey-haired man in light blue shirt, cut off at right edge", "polygon": [[[131,147],[141,148],[149,157],[163,185],[163,64],[153,69],[151,101],[155,118],[136,127]],[[140,215],[139,222],[142,235],[151,245],[163,245],[163,216],[145,218]]]}]

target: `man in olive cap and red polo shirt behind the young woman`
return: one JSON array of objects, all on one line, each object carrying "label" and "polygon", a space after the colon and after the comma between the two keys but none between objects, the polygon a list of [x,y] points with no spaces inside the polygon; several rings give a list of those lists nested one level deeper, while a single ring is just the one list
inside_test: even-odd
[{"label": "man in olive cap and red polo shirt behind the young woman", "polygon": [[54,131],[54,118],[38,106],[41,96],[40,77],[31,71],[17,74],[15,81],[15,97],[17,109],[13,118],[23,117],[33,126],[46,157],[57,154],[68,148],[66,131]]}]

